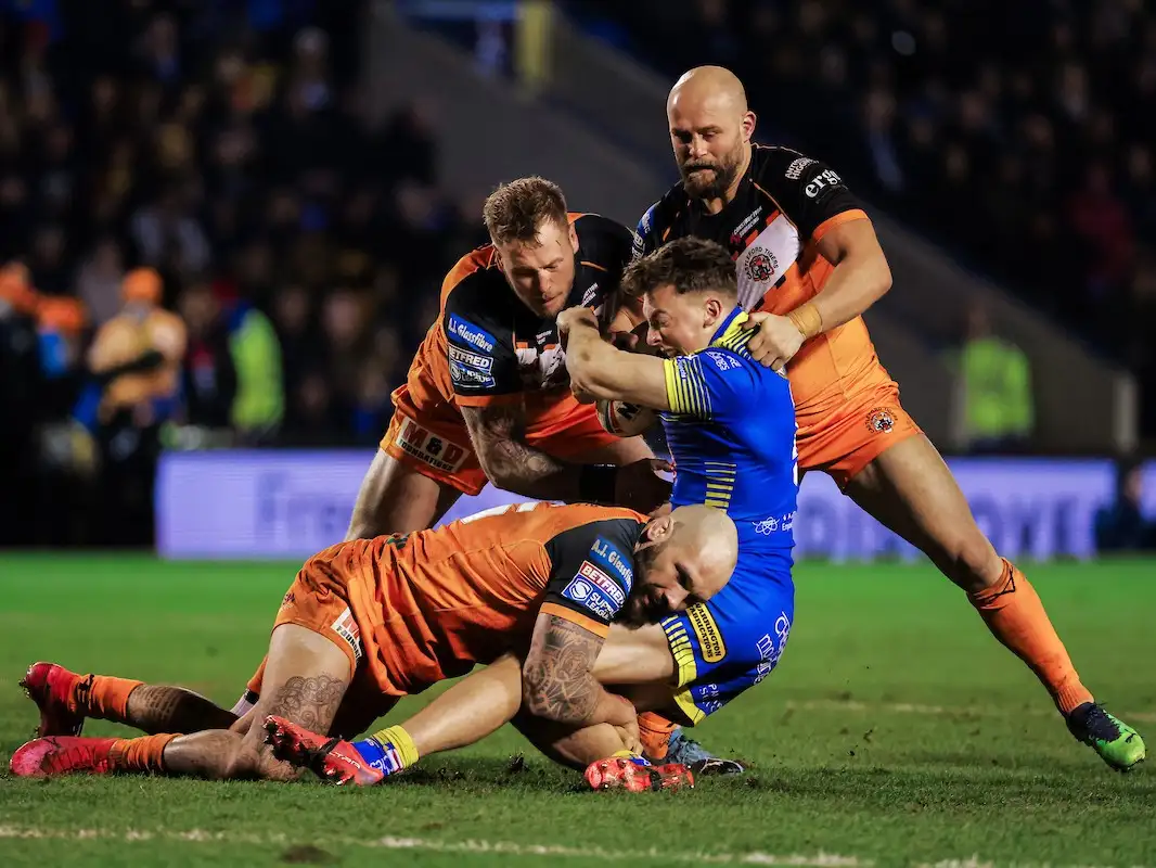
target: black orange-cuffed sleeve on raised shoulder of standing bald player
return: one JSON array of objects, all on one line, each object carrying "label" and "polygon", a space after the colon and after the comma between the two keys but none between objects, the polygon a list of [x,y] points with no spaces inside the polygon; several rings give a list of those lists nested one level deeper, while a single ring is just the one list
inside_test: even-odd
[{"label": "black orange-cuffed sleeve on raised shoulder of standing bald player", "polygon": [[780,150],[769,160],[759,183],[768,185],[803,241],[818,241],[839,223],[867,218],[835,169],[794,150]]}]

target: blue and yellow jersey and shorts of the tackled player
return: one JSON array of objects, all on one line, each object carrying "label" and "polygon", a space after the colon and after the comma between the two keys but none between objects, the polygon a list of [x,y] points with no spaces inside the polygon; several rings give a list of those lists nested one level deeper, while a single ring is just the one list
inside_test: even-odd
[{"label": "blue and yellow jersey and shorts of the tackled player", "polygon": [[727,586],[662,621],[682,689],[675,701],[692,723],[770,674],[794,617],[794,405],[786,378],[747,352],[746,319],[735,308],[706,350],[665,362],[672,502],[717,507],[739,529]]}]

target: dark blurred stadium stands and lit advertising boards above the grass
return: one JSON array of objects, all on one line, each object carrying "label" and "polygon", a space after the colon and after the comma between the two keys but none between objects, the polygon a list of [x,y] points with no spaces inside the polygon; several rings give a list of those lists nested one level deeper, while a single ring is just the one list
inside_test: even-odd
[{"label": "dark blurred stadium stands and lit advertising boards above the grass", "polygon": [[[324,544],[346,458],[297,453],[274,479],[220,450],[364,462],[442,275],[486,240],[487,192],[540,172],[632,225],[674,177],[665,89],[713,61],[748,82],[761,140],[869,203],[896,280],[867,318],[906,405],[946,453],[1016,456],[957,465],[985,527],[1013,552],[1092,553],[1128,490],[1113,462],[1156,437],[1156,17],[1024,2],[987,34],[995,6],[966,6],[8,0],[3,542],[150,545],[156,462],[184,478],[181,453],[212,448],[187,498],[158,490],[165,551],[229,553],[198,531],[216,515],[260,554],[279,486],[323,525],[268,553]],[[86,351],[139,265],[188,329],[181,388],[110,426]],[[984,359],[1025,376],[991,382]],[[1138,473],[1150,516],[1156,465]],[[904,549],[825,481],[805,481],[803,553]]]}]

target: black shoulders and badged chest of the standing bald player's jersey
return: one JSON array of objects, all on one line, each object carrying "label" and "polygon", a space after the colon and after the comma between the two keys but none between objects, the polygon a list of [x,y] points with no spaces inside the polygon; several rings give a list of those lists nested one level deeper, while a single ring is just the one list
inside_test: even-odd
[{"label": "black shoulders and badged chest of the standing bald player's jersey", "polygon": [[865,216],[829,167],[790,148],[755,145],[750,167],[722,211],[710,214],[679,182],[643,215],[635,255],[688,235],[717,241],[735,259],[739,304],[772,310],[772,293],[788,282],[807,244],[838,222]]}]

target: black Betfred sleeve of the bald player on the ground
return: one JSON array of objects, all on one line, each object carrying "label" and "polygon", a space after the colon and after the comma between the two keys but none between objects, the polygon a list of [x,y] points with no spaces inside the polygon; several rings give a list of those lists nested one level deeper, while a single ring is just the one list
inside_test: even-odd
[{"label": "black Betfred sleeve of the bald player on the ground", "polygon": [[605,638],[630,596],[642,527],[632,518],[608,518],[571,528],[547,543],[550,580],[541,612]]}]

